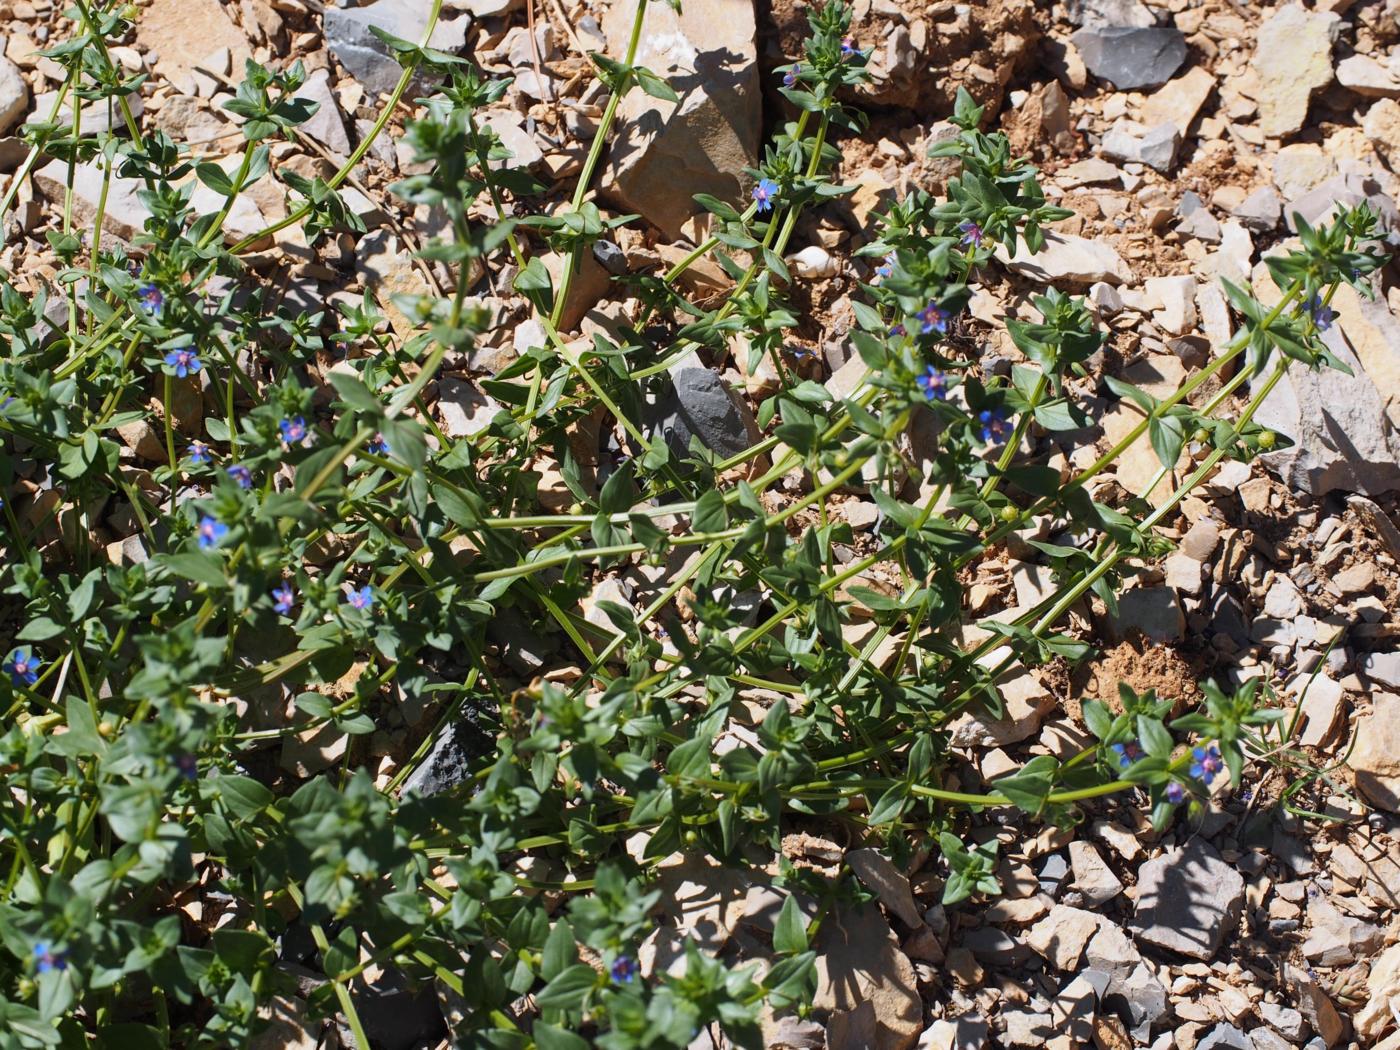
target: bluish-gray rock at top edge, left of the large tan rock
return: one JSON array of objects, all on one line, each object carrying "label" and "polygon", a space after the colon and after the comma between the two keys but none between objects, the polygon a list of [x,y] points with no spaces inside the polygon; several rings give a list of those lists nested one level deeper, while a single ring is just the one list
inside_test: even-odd
[{"label": "bluish-gray rock at top edge, left of the large tan rock", "polygon": [[[399,39],[419,43],[423,31],[427,29],[431,8],[430,0],[377,0],[364,7],[328,6],[322,25],[326,46],[367,90],[386,94],[399,83],[403,69],[370,27],[375,25]],[[428,41],[430,45],[456,55],[466,45],[468,21],[468,18],[455,21],[440,18]],[[417,77],[414,85],[421,90],[427,81]]]}]

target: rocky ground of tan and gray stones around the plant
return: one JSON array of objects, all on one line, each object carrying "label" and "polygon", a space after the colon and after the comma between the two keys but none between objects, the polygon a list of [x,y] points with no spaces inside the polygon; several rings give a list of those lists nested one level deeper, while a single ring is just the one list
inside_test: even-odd
[{"label": "rocky ground of tan and gray stones around the plant", "polygon": [[[14,134],[52,108],[63,74],[36,52],[69,35],[63,10],[50,0],[0,0],[0,132]],[[126,70],[151,74],[141,119],[213,158],[239,146],[221,104],[244,59],[302,59],[312,71],[304,94],[322,108],[300,146],[274,148],[274,169],[325,174],[367,133],[398,76],[367,27],[417,38],[426,10],[419,0],[346,8],[153,0],[115,53]],[[858,0],[855,10],[855,39],[874,49],[875,71],[862,99],[868,132],[839,143],[840,181],[857,189],[804,218],[792,259],[808,280],[791,357],[833,389],[850,358],[848,295],[869,274],[854,253],[862,230],[892,193],[937,189],[948,176],[925,153],[948,133],[958,87],[1000,113],[1016,147],[1040,162],[1049,195],[1077,213],[1046,253],[987,274],[967,335],[986,343],[991,370],[1015,357],[1000,318],[1025,314],[1025,294],[1047,276],[1086,294],[1112,330],[1096,365],[1165,395],[1232,332],[1219,276],[1252,281],[1266,301],[1277,295],[1260,258],[1288,241],[1295,213],[1317,221],[1336,202],[1366,199],[1389,231],[1400,221],[1397,0]],[[622,50],[630,6],[540,0],[528,17],[522,0],[448,0],[445,14],[435,46],[515,77],[491,126],[518,162],[567,186],[601,116],[585,52]],[[659,123],[655,99],[636,92],[623,105],[601,203],[643,221],[620,228],[616,251],[585,269],[564,318],[582,336],[608,330],[634,307],[605,297],[609,273],[654,272],[699,242],[693,193],[746,195],[739,171],[780,118],[770,71],[794,56],[805,6],[686,0],[679,18],[664,4],[648,18],[638,60],[689,90]],[[437,217],[405,210],[386,192],[413,171],[395,134],[402,116],[347,190],[367,235],[312,248],[291,227],[249,258],[286,301],[319,309],[365,288],[386,301],[445,284],[444,272],[410,258],[437,232]],[[13,172],[24,153],[15,139],[0,139],[0,171]],[[50,284],[57,270],[43,235],[60,221],[64,185],[64,162],[38,168],[4,216],[0,265],[27,290]],[[78,165],[80,221],[95,214],[99,186],[95,169]],[[144,217],[134,186],[119,181],[105,213],[105,232],[130,238]],[[283,189],[267,176],[239,200],[225,234],[237,241],[283,214]],[[1326,342],[1354,375],[1295,367],[1266,403],[1259,420],[1295,445],[1253,466],[1228,463],[1187,498],[1166,529],[1179,550],[1140,567],[1117,616],[1088,603],[1075,610],[1071,626],[1096,638],[1100,655],[1074,675],[1007,683],[1007,720],[966,717],[958,731],[969,748],[963,781],[976,784],[1032,755],[1075,750],[1085,739],[1079,699],[1112,697],[1120,680],[1190,700],[1204,676],[1259,678],[1296,708],[1298,752],[1316,776],[1260,763],[1243,791],[1222,791],[1203,822],[1165,836],[1152,833],[1131,798],[1096,806],[1075,841],[988,825],[986,834],[1002,840],[1005,897],[981,909],[945,911],[935,903],[939,888],[917,868],[909,875],[874,851],[847,854],[846,843],[795,833],[795,862],[834,871],[844,854],[878,903],[826,927],[813,1019],[778,1025],[774,1046],[1400,1047],[1397,276],[1394,266],[1380,274],[1373,302],[1347,290],[1334,302],[1338,322]],[[473,433],[497,407],[473,379],[542,342],[507,277],[497,276],[494,294],[486,290],[498,322],[487,343],[437,384],[449,435]],[[704,263],[687,283],[701,300],[728,287]],[[389,314],[407,330],[406,318]],[[734,371],[742,358],[728,364],[735,386],[750,398],[770,392],[774,375]],[[1096,445],[1064,449],[1077,465],[1135,421],[1135,410],[1103,398],[1096,382],[1078,395],[1099,430]],[[197,427],[197,416],[196,406],[181,426]],[[133,462],[164,459],[147,424],[122,437]],[[1135,493],[1155,470],[1144,447],[1100,483]],[[546,504],[571,500],[557,482],[546,470]],[[41,508],[38,519],[46,500],[31,497],[21,505]],[[875,521],[874,504],[858,494],[843,497],[837,512],[858,532]],[[139,539],[133,549],[119,522],[109,528],[113,560],[141,556]],[[1035,605],[1050,585],[1036,559],[1023,542],[994,552],[979,567],[970,612]],[[602,581],[606,595],[595,596],[627,601],[644,585],[624,574]],[[507,634],[494,655],[517,671],[538,668],[529,645]],[[386,717],[371,743],[386,776],[428,724],[423,711]],[[335,762],[337,746],[343,738],[293,738],[269,757],[305,776]],[[440,746],[426,776],[448,777],[451,750]],[[762,892],[686,864],[664,878],[676,923],[707,931],[717,951],[742,946],[745,928],[763,921]],[[322,1032],[284,1018],[263,1046],[336,1039],[335,1026]]]}]

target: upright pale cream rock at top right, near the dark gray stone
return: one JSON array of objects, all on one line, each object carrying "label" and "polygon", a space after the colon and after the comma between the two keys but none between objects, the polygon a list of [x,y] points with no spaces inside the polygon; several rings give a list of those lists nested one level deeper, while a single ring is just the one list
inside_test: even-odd
[{"label": "upright pale cream rock at top right, near the dark gray stone", "polygon": [[1259,28],[1253,66],[1264,134],[1281,139],[1302,129],[1313,92],[1331,83],[1331,45],[1340,22],[1331,11],[1288,4]]}]

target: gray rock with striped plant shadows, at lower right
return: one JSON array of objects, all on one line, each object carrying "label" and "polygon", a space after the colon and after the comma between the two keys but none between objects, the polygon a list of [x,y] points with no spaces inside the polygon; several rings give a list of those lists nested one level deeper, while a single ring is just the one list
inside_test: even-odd
[{"label": "gray rock with striped plant shadows, at lower right", "polygon": [[1239,923],[1245,879],[1200,839],[1138,868],[1133,935],[1208,960]]}]

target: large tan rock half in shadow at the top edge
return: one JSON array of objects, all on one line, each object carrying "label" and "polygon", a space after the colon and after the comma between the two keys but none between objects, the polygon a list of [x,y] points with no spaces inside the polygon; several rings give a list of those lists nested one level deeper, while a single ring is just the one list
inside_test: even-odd
[{"label": "large tan rock half in shadow at the top edge", "polygon": [[[609,55],[622,55],[637,3],[613,0],[603,18]],[[676,14],[650,4],[637,63],[680,95],[641,91],[622,102],[602,193],[669,238],[699,210],[696,193],[741,207],[762,125],[752,0],[692,0]]]}]

